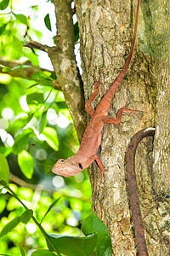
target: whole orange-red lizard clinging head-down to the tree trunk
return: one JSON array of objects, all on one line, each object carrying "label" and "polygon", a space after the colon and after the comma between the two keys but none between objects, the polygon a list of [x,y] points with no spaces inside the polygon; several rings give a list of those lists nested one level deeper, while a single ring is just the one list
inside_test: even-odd
[{"label": "whole orange-red lizard clinging head-down to the tree trunk", "polygon": [[137,14],[133,32],[133,41],[131,44],[131,49],[129,55],[127,56],[127,60],[125,61],[124,67],[122,67],[122,71],[118,74],[114,82],[111,84],[109,90],[106,91],[105,95],[102,97],[99,105],[94,110],[90,106],[92,102],[94,102],[95,97],[99,91],[99,79],[101,73],[99,74],[99,79],[94,83],[94,93],[88,99],[88,102],[85,105],[91,119],[88,123],[88,126],[84,132],[82,137],[82,143],[80,148],[77,151],[77,154],[71,156],[66,160],[59,159],[53,166],[52,172],[55,174],[64,176],[64,177],[71,177],[77,175],[79,172],[82,172],[84,169],[88,168],[94,160],[96,160],[100,170],[101,170],[101,177],[104,176],[105,168],[100,160],[99,156],[96,154],[101,143],[102,138],[102,130],[105,124],[115,124],[118,125],[122,119],[122,113],[129,113],[133,116],[138,116],[135,112],[144,112],[141,110],[133,110],[127,108],[127,103],[124,107],[120,108],[116,114],[116,119],[109,117],[107,114],[109,112],[111,101],[113,96],[116,93],[116,90],[122,83],[122,79],[124,78],[125,74],[127,73],[127,68],[132,60],[133,50],[136,42],[137,30],[138,30],[138,20],[139,20],[139,4],[140,0],[138,0],[137,6]]}]

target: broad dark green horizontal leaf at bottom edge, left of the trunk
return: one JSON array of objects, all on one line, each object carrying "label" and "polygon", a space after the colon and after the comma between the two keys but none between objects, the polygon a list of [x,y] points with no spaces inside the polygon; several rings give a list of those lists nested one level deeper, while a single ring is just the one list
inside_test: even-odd
[{"label": "broad dark green horizontal leaf at bottom edge, left of the trunk", "polygon": [[[48,234],[48,238],[59,253],[66,256],[92,256],[97,243],[97,235],[89,236],[61,236]],[[48,245],[49,250],[52,248]]]}]

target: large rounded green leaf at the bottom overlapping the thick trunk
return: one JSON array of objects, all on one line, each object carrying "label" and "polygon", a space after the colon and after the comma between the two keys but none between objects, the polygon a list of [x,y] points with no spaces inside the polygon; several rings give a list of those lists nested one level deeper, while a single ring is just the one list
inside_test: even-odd
[{"label": "large rounded green leaf at the bottom overlapping the thick trunk", "polygon": [[105,227],[105,224],[103,224],[94,213],[91,213],[82,222],[82,232],[86,236],[94,233],[98,234],[98,242],[95,250],[96,256],[112,255],[111,237],[109,236],[109,232]]}]

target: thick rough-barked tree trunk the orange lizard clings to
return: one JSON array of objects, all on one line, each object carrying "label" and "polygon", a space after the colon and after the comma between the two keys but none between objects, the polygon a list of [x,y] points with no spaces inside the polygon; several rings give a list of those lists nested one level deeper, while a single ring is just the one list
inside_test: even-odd
[{"label": "thick rough-barked tree trunk the orange lizard clings to", "polygon": [[[131,46],[137,0],[79,0],[84,95],[93,93],[94,80],[102,70],[99,96],[94,108],[121,71]],[[168,5],[168,1],[167,1]],[[136,255],[125,156],[130,138],[144,127],[156,127],[156,136],[140,143],[136,155],[141,211],[149,255],[169,255],[169,6],[165,1],[142,1],[133,61],[111,103],[116,116],[128,100],[129,108],[144,110],[142,120],[124,114],[120,125],[105,125],[99,156],[105,165],[105,180],[99,167],[89,170],[94,212],[107,226],[113,255]],[[166,22],[166,24],[165,24]],[[167,37],[167,38],[166,38]],[[163,108],[163,109],[162,109]]]}]

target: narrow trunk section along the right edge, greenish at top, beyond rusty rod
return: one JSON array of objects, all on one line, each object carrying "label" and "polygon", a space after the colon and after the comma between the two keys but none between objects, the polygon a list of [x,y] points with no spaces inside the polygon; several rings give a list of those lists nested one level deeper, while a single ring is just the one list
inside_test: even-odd
[{"label": "narrow trunk section along the right edge, greenish at top, beyond rusty rod", "polygon": [[[169,1],[144,1],[145,38],[156,70],[156,136],[154,141],[152,189],[155,201],[146,218],[153,251],[150,255],[170,253],[170,87]],[[146,51],[147,54],[147,51]],[[149,225],[150,223],[150,225]],[[156,244],[156,241],[159,243]]]}]

